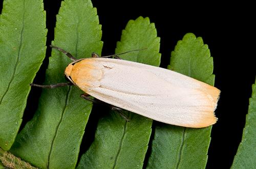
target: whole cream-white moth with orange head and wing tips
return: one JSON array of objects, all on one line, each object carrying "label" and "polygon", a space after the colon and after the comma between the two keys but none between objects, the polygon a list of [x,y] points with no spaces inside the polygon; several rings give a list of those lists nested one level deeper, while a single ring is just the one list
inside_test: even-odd
[{"label": "whole cream-white moth with orange head and wing tips", "polygon": [[[215,109],[220,90],[172,70],[125,61],[118,55],[76,60],[66,70],[68,83],[31,86],[56,88],[75,85],[88,96],[144,117],[178,126],[202,128],[217,122]],[[125,52],[126,53],[126,52]],[[110,58],[114,57],[116,59]]]}]

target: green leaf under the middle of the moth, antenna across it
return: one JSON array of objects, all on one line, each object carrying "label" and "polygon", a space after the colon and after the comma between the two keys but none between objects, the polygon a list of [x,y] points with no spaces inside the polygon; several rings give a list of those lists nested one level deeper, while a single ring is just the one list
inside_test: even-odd
[{"label": "green leaf under the middle of the moth, antenna across it", "polygon": [[[147,48],[120,55],[124,60],[159,66],[160,38],[150,19],[139,17],[130,20],[117,43],[116,53]],[[126,112],[126,122],[117,112],[110,112],[99,120],[95,140],[82,155],[78,168],[142,168],[152,120]]]}]

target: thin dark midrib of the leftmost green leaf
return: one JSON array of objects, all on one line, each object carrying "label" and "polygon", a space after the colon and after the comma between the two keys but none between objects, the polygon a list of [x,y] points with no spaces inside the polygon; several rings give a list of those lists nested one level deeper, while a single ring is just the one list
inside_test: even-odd
[{"label": "thin dark midrib of the leftmost green leaf", "polygon": [[11,86],[11,83],[14,79],[14,75],[16,74],[16,71],[17,71],[17,66],[18,66],[18,62],[20,60],[20,52],[21,52],[21,48],[22,48],[22,41],[23,41],[23,33],[24,33],[24,19],[25,18],[25,0],[23,1],[23,18],[22,18],[22,30],[20,31],[20,41],[19,41],[19,47],[18,47],[18,55],[16,57],[16,63],[15,63],[15,66],[14,66],[14,70],[13,70],[13,74],[12,74],[12,78],[8,84],[8,87],[5,91],[5,93],[3,94],[1,100],[0,100],[0,105],[2,104],[2,101],[4,100],[4,97],[6,96],[10,86]]}]

